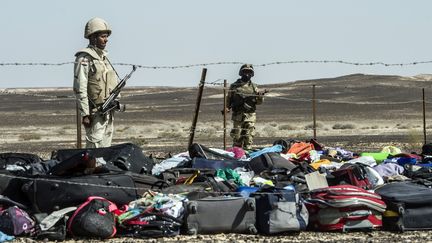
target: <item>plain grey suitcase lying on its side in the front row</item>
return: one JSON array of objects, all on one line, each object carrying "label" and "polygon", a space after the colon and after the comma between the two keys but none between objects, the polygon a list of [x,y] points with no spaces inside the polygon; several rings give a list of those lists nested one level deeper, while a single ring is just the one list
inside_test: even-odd
[{"label": "plain grey suitcase lying on its side in the front row", "polygon": [[255,199],[207,197],[187,203],[188,234],[252,233],[255,227]]}]

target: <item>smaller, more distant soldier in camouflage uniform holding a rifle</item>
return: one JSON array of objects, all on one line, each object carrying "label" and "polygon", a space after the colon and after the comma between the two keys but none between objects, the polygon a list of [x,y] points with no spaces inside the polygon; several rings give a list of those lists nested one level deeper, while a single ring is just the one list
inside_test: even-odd
[{"label": "smaller, more distant soldier in camouflage uniform holding a rifle", "polygon": [[230,135],[233,146],[250,150],[255,136],[256,105],[263,102],[264,93],[259,92],[257,85],[251,81],[254,76],[251,64],[242,65],[239,75],[241,78],[231,84],[227,97],[227,109],[233,111]]}]

